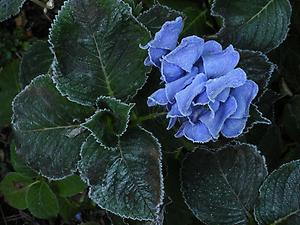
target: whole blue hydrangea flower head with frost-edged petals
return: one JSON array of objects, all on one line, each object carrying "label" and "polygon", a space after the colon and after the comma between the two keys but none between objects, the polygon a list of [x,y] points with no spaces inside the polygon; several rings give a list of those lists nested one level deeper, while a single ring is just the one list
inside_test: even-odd
[{"label": "whole blue hydrangea flower head with frost-edged petals", "polygon": [[145,49],[146,66],[160,69],[164,87],[148,98],[148,106],[165,106],[170,119],[167,129],[177,121],[176,137],[196,143],[239,136],[249,117],[249,108],[258,86],[241,68],[240,55],[230,45],[223,49],[216,41],[197,36],[178,38],[183,20],[166,22]]}]

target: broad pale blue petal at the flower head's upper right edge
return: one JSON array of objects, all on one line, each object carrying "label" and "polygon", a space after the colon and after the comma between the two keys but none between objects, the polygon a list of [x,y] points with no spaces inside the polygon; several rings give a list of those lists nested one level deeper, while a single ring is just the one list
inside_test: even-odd
[{"label": "broad pale blue petal at the flower head's upper right edge", "polygon": [[240,60],[240,54],[230,45],[220,53],[203,55],[202,59],[205,74],[215,78],[233,70]]}]

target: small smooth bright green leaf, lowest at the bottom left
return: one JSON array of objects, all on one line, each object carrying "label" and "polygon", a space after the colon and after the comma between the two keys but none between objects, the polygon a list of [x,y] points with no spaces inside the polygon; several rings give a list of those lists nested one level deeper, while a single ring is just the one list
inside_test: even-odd
[{"label": "small smooth bright green leaf, lowest at the bottom left", "polygon": [[39,219],[49,219],[58,215],[58,200],[44,181],[40,181],[29,188],[26,202],[31,214]]}]

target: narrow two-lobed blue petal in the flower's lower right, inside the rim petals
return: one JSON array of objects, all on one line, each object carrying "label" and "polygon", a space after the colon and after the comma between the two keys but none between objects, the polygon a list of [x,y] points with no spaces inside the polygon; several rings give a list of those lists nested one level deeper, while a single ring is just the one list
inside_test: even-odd
[{"label": "narrow two-lobed blue petal in the flower's lower right, inside the rim petals", "polygon": [[200,117],[200,121],[205,124],[211,135],[217,139],[226,119],[228,119],[237,109],[237,102],[233,97],[229,97],[225,103],[221,103],[215,116],[206,113]]}]

